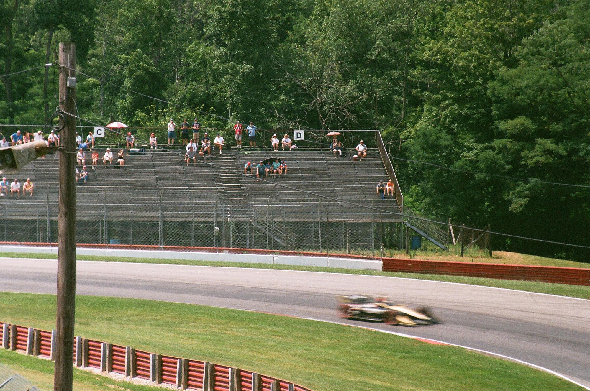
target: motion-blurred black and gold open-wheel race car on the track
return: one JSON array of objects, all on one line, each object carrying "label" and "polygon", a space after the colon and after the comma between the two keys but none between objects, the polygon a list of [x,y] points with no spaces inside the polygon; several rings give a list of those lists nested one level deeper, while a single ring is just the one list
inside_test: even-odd
[{"label": "motion-blurred black and gold open-wheel race car on the track", "polygon": [[402,326],[440,323],[428,308],[412,310],[405,305],[395,304],[386,297],[372,298],[367,295],[341,296],[338,313],[341,318],[375,320]]}]

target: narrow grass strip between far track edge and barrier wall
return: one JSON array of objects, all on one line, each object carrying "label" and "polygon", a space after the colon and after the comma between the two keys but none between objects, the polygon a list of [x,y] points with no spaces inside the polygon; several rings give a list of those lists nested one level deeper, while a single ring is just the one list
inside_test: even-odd
[{"label": "narrow grass strip between far track edge and barrier wall", "polygon": [[[40,258],[56,259],[55,254],[37,254],[25,252],[0,252],[0,257],[10,258]],[[480,277],[463,277],[454,275],[440,274],[418,274],[405,272],[383,272],[374,270],[356,270],[343,268],[327,268],[316,266],[296,266],[296,265],[269,265],[269,264],[250,264],[241,262],[215,262],[215,261],[192,261],[188,259],[160,259],[160,258],[120,258],[120,257],[102,257],[100,255],[77,255],[79,260],[84,261],[107,261],[107,262],[132,262],[146,264],[175,264],[175,265],[197,265],[197,266],[216,266],[216,267],[241,267],[257,269],[275,269],[275,270],[300,270],[300,271],[317,271],[329,273],[345,273],[360,275],[383,275],[386,277],[415,278],[418,280],[458,282],[461,284],[482,285],[484,287],[496,287],[514,289],[526,292],[546,293],[559,296],[585,298],[590,300],[590,287],[581,285],[550,284],[548,282],[536,281],[517,281],[517,280],[497,280],[494,278]]]}]

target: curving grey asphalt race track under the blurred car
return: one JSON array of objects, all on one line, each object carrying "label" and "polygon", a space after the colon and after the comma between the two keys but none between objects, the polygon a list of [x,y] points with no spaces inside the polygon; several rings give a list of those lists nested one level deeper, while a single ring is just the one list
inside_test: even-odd
[{"label": "curving grey asphalt race track under the blurred car", "polygon": [[[55,294],[57,261],[0,258],[0,290]],[[411,334],[545,367],[590,387],[590,301],[445,282],[284,270],[77,262],[77,293],[207,304]],[[337,295],[428,305],[422,327],[341,320]],[[590,389],[590,388],[589,388]]]}]

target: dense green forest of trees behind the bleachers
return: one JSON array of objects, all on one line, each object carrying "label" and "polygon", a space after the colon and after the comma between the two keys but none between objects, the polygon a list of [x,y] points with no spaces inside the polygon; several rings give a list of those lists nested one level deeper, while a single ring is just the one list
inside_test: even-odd
[{"label": "dense green forest of trees behind the bleachers", "polygon": [[[0,0],[0,18],[2,74],[76,42],[104,80],[78,79],[84,118],[380,129],[412,208],[590,245],[589,0]],[[0,123],[45,123],[57,72],[2,77]]]}]

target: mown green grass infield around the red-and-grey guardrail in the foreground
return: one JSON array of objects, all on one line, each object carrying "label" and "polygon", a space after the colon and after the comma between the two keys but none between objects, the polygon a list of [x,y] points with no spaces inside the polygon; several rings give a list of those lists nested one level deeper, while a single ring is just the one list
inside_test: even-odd
[{"label": "mown green grass infield around the red-and-grey guardrail in the foreground", "polygon": [[[0,293],[0,302],[3,321],[54,327],[54,295]],[[148,300],[78,296],[76,305],[78,336],[242,367],[315,391],[580,389],[520,364],[357,327]],[[51,388],[51,363],[6,351],[0,359]],[[75,389],[120,389],[94,374],[74,376],[83,385]]]}]

